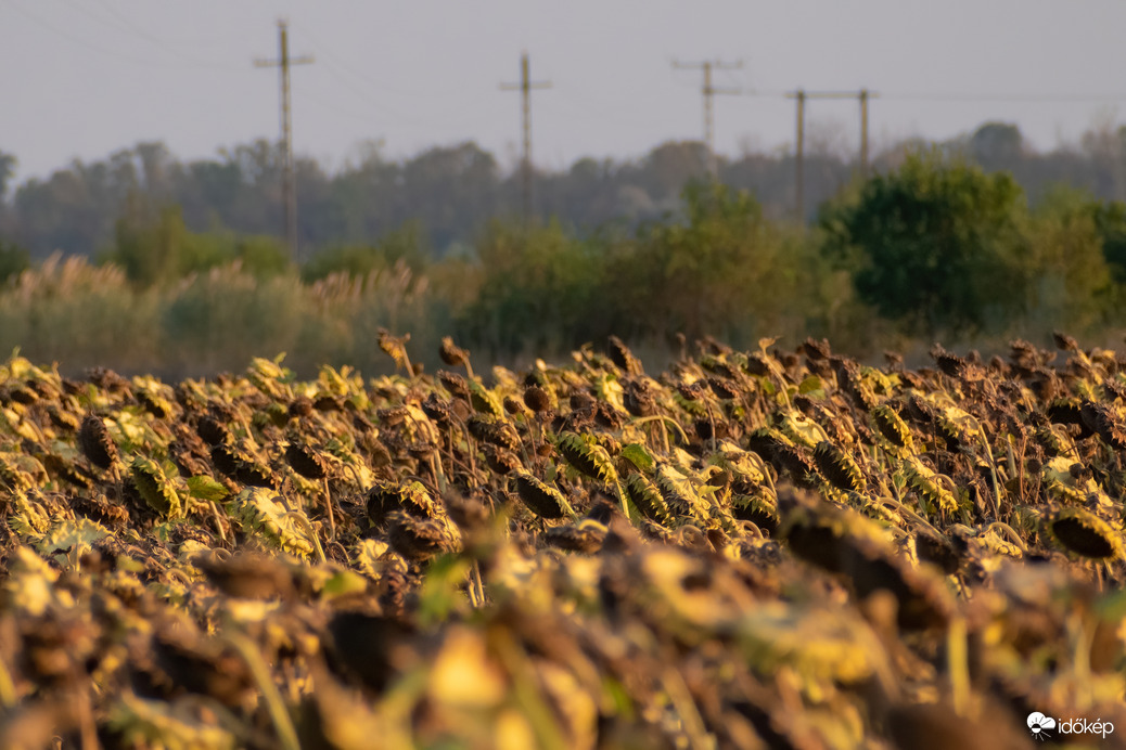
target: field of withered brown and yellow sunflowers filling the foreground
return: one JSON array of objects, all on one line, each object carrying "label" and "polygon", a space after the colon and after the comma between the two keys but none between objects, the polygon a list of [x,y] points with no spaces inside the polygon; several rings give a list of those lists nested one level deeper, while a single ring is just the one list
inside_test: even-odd
[{"label": "field of withered brown and yellow sunflowers filling the foreground", "polygon": [[482,379],[384,332],[408,374],[176,386],[14,358],[0,746],[1126,728],[1126,369],[1057,343],[912,371],[708,340],[652,377],[611,340]]}]

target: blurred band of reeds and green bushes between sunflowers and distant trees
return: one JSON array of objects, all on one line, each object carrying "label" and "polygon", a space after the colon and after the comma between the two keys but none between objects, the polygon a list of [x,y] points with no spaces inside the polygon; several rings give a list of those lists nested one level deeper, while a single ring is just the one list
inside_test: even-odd
[{"label": "blurred band of reeds and green bushes between sunflowers and distant trees", "polygon": [[[473,152],[461,159],[481,169]],[[134,190],[123,205],[92,257],[0,241],[0,351],[70,372],[177,378],[286,352],[302,373],[348,363],[375,374],[390,365],[381,327],[410,333],[412,360],[432,370],[444,335],[488,365],[617,334],[658,367],[679,351],[678,334],[740,347],[828,336],[875,358],[938,338],[1046,342],[1053,329],[1106,343],[1126,323],[1126,205],[1060,186],[1030,199],[1011,171],[940,148],[854,180],[812,224],[771,216],[748,190],[689,181],[643,220],[579,229],[493,218],[472,242],[439,247],[434,227],[405,219],[302,264],[278,240],[222,219],[190,228],[189,209],[159,191]]]}]

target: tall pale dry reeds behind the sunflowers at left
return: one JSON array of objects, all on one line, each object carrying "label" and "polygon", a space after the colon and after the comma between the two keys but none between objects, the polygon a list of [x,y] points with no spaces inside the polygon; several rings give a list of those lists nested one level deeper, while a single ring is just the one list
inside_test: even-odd
[{"label": "tall pale dry reeds behind the sunflowers at left", "polygon": [[437,351],[448,319],[436,316],[432,295],[429,280],[402,263],[311,284],[295,273],[258,279],[235,263],[138,289],[114,265],[54,255],[0,289],[0,351],[18,347],[69,373],[109,367],[193,377],[282,352],[303,373],[322,364],[376,373],[390,368],[375,344],[379,327],[409,331],[420,350]]}]

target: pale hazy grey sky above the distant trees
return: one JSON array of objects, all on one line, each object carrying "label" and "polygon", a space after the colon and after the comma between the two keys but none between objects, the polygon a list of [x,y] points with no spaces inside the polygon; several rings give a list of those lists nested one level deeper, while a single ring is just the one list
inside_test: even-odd
[{"label": "pale hazy grey sky above the distant trees", "polygon": [[[793,143],[797,87],[879,92],[877,147],[1003,119],[1049,150],[1126,119],[1121,0],[0,0],[0,150],[23,181],[137,141],[196,159],[277,137],[277,71],[252,60],[277,55],[283,16],[291,53],[316,57],[293,70],[295,147],[331,168],[367,139],[392,157],[475,139],[513,163],[519,96],[498,84],[521,49],[553,83],[533,94],[534,159],[553,169],[700,137],[700,73],[673,58],[743,61],[715,81],[754,94],[716,97],[731,155]],[[928,98],[951,94],[980,99]],[[812,102],[811,137],[850,147],[857,112]]]}]

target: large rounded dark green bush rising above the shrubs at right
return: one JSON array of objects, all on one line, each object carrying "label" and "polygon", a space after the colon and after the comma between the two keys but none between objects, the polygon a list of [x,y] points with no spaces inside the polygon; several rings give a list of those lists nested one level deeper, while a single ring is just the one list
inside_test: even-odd
[{"label": "large rounded dark green bush rising above the shrubs at right", "polygon": [[1024,191],[937,152],[910,155],[858,196],[829,205],[825,252],[859,299],[910,333],[968,333],[1021,308],[1028,280]]}]

